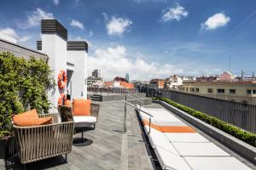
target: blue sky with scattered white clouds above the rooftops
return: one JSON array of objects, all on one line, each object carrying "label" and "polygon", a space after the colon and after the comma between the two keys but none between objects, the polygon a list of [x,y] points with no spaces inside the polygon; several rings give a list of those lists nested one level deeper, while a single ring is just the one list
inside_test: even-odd
[{"label": "blue sky with scattered white clouds above the rooftops", "polygon": [[70,40],[89,42],[89,74],[106,79],[215,75],[229,59],[238,76],[256,71],[253,0],[3,0],[0,9],[0,33],[29,48],[40,19],[59,20]]}]

